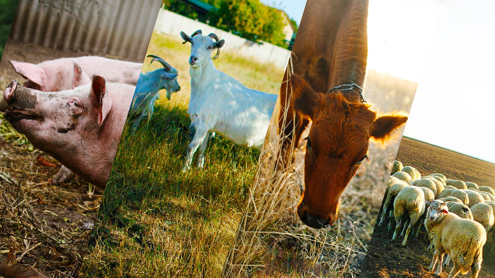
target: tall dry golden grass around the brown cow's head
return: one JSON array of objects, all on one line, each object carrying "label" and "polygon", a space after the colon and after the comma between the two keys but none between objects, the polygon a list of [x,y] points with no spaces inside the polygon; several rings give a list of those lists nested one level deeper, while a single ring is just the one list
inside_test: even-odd
[{"label": "tall dry golden grass around the brown cow's head", "polygon": [[[416,84],[376,72],[368,74],[366,83],[364,95],[375,104],[374,109],[410,109]],[[372,93],[367,94],[369,91]],[[398,133],[402,131],[403,128]],[[370,144],[370,162],[360,167],[347,186],[341,217],[328,230],[311,229],[298,220],[304,146],[297,149],[293,165],[276,172],[274,154],[281,141],[280,136],[272,139],[261,152],[239,230],[223,269],[224,277],[358,276],[398,141],[385,149]]]}]

